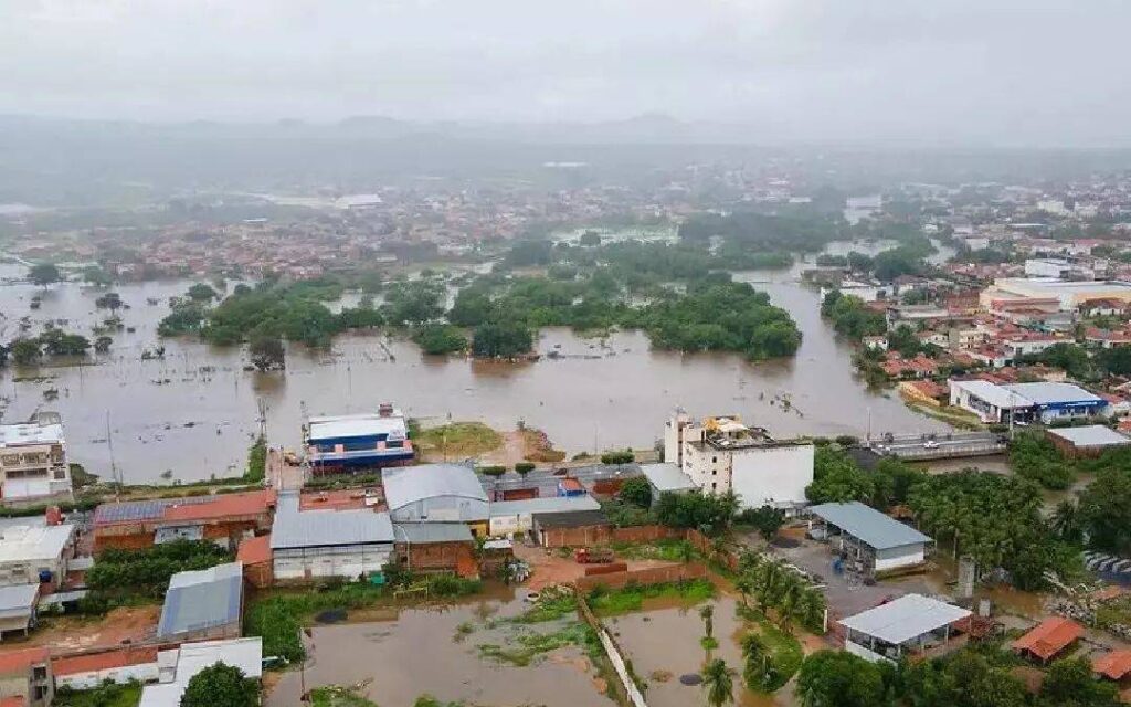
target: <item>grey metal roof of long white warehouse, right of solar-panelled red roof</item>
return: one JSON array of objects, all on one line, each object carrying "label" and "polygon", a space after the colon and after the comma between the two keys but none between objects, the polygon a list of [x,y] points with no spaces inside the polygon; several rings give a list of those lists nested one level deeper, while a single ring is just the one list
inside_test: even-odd
[{"label": "grey metal roof of long white warehouse, right of solar-panelled red roof", "polygon": [[271,550],[391,543],[389,514],[369,509],[299,510],[297,493],[280,493]]}]

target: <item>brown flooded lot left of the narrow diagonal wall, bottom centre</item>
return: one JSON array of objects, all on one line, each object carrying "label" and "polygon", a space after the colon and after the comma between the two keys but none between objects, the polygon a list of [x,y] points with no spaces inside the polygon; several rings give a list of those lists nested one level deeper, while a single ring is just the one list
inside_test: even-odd
[{"label": "brown flooded lot left of the narrow diagonal wall, bottom centre", "polygon": [[[305,682],[308,690],[364,683],[363,695],[382,707],[409,707],[425,692],[442,702],[608,707],[612,702],[598,691],[580,648],[558,648],[525,667],[478,655],[477,646],[506,645],[516,630],[506,623],[486,628],[484,622],[526,606],[512,598],[477,598],[443,607],[392,610],[361,623],[314,627],[303,639],[310,655],[304,670],[285,673],[265,706],[301,705]],[[476,628],[457,640],[457,627],[465,622]],[[535,624],[534,630],[549,632],[558,626]]]}]

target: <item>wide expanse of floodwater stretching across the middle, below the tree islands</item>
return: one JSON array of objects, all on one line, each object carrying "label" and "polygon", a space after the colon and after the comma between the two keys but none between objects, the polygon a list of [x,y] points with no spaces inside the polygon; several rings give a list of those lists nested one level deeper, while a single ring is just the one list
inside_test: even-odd
[{"label": "wide expanse of floodwater stretching across the middle, below the tree islands", "polygon": [[[347,335],[328,352],[288,346],[287,370],[264,374],[243,370],[239,348],[158,339],[169,296],[183,294],[191,282],[127,284],[115,287],[130,305],[120,316],[136,330],[115,333],[110,353],[83,365],[0,370],[0,412],[9,422],[36,409],[61,413],[75,462],[109,477],[113,458],[133,483],[240,473],[260,405],[271,443],[291,448],[300,442],[304,415],[370,411],[385,400],[434,421],[482,420],[500,429],[523,421],[569,454],[651,447],[675,406],[693,415],[739,414],[779,438],[949,429],[856,378],[852,347],[821,321],[818,292],[800,282],[804,267],[811,265],[735,276],[789,310],[804,336],[794,359],[760,363],[733,354],[654,352],[637,331],[602,342],[549,329],[537,347],[558,357],[534,363],[425,356],[411,342]],[[24,271],[0,266],[0,278]],[[77,283],[53,285],[33,311],[38,292],[29,284],[0,286],[0,340],[19,334],[24,316],[35,322],[33,331],[45,319],[61,319],[66,329],[93,339],[90,326],[109,313],[94,305],[101,291]],[[157,303],[147,304],[150,298]],[[143,352],[157,345],[165,346],[164,360],[143,361]],[[58,399],[45,399],[52,389]]]}]

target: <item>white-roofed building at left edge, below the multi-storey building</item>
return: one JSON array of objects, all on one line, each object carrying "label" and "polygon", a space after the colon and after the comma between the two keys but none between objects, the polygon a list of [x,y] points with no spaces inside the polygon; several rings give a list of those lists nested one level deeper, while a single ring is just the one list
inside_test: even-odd
[{"label": "white-roofed building at left edge, below the multi-storey building", "polygon": [[75,557],[76,526],[9,526],[0,536],[0,587],[59,587]]}]

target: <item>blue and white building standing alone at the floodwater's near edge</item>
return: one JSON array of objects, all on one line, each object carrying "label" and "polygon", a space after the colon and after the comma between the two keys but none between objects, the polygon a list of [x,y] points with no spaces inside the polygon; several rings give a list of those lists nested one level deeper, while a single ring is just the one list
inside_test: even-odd
[{"label": "blue and white building standing alone at the floodwater's near edge", "polygon": [[359,466],[399,466],[413,460],[408,425],[399,409],[310,417],[303,426],[307,460],[316,473]]}]

